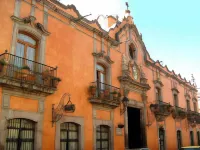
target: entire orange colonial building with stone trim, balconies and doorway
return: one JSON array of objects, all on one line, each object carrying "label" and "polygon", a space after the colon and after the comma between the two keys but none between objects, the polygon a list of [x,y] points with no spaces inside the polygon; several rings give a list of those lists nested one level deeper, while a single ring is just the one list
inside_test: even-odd
[{"label": "entire orange colonial building with stone trim, balconies and doorway", "polygon": [[56,0],[0,0],[1,150],[199,145],[197,89],[151,59],[127,9],[109,31]]}]

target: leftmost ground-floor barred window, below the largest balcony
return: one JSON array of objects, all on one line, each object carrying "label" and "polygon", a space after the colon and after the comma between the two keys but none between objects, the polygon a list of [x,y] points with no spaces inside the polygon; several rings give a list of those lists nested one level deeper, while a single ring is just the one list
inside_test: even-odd
[{"label": "leftmost ground-floor barred window, below the largest balcony", "polygon": [[7,150],[34,150],[35,123],[27,119],[8,121]]}]

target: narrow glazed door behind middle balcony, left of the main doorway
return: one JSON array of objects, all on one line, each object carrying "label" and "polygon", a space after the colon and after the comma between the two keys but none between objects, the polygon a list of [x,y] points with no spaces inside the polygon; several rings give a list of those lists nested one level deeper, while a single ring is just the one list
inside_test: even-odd
[{"label": "narrow glazed door behind middle balcony, left of the main doorway", "polygon": [[106,69],[102,66],[97,64],[97,84],[98,88],[101,91],[105,90],[105,83],[106,83]]}]

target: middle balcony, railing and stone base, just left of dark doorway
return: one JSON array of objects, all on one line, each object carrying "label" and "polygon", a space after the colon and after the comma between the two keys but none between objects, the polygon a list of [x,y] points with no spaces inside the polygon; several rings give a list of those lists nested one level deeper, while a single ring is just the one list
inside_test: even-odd
[{"label": "middle balcony, railing and stone base, just left of dark doorway", "polygon": [[120,89],[102,82],[92,82],[89,87],[90,102],[117,107],[120,104]]}]

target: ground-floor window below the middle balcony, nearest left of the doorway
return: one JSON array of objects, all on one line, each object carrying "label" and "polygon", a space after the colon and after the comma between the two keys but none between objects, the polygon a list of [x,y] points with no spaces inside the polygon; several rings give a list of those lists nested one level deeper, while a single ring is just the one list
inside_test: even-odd
[{"label": "ground-floor window below the middle balcony, nearest left of the doorway", "polygon": [[96,137],[96,149],[97,150],[109,150],[109,127],[100,125],[97,127],[97,137]]}]

